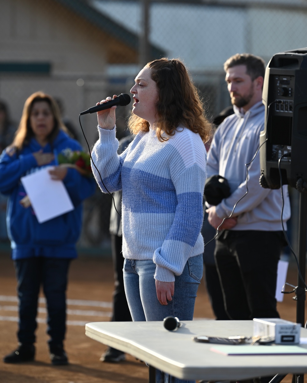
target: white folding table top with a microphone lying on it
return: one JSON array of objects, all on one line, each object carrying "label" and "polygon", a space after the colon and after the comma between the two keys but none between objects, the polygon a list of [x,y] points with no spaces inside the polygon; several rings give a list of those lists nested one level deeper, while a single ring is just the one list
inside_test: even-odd
[{"label": "white folding table top with a microphone lying on it", "polygon": [[[167,331],[163,322],[92,322],[85,329],[88,337],[180,379],[241,380],[307,373],[307,355],[221,355],[210,350],[213,344],[191,339],[197,335],[249,337],[253,321],[183,321],[177,331]],[[307,337],[307,329],[301,329],[301,337]]]}]

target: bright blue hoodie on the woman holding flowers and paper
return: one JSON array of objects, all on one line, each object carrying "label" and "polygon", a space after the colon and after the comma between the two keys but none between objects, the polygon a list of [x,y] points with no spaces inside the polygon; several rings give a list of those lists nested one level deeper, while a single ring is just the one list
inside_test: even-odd
[{"label": "bright blue hoodie on the woman holding flowers and paper", "polygon": [[52,147],[47,144],[41,147],[35,138],[20,152],[3,151],[0,157],[0,192],[8,195],[7,229],[11,240],[12,259],[29,257],[76,258],[76,242],[82,226],[82,201],[92,195],[96,189],[93,178],[84,177],[78,170],[68,168],[63,183],[68,191],[74,210],[44,223],[38,223],[32,207],[24,208],[20,200],[26,195],[20,178],[36,172],[38,166],[33,152],[60,153],[70,148],[81,151],[81,145],[60,131]]}]

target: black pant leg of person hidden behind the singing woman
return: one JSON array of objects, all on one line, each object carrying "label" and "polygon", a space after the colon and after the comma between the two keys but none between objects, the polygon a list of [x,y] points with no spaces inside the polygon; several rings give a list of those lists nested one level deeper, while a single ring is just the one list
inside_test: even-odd
[{"label": "black pant leg of person hidden behind the singing woman", "polygon": [[111,234],[111,249],[114,269],[113,316],[111,321],[132,321],[124,289],[122,237]]}]

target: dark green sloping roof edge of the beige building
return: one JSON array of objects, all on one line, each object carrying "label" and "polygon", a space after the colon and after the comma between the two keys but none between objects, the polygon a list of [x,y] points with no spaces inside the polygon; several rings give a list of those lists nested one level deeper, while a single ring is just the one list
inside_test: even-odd
[{"label": "dark green sloping roof edge of the beige building", "polygon": [[[63,5],[69,10],[76,13],[78,16],[83,17],[92,25],[100,28],[104,33],[112,35],[112,37],[119,39],[122,43],[126,44],[132,49],[138,51],[139,49],[139,36],[124,26],[117,24],[108,16],[97,11],[86,0],[54,0]],[[165,56],[165,51],[160,47],[150,44],[151,59],[158,59]]]}]

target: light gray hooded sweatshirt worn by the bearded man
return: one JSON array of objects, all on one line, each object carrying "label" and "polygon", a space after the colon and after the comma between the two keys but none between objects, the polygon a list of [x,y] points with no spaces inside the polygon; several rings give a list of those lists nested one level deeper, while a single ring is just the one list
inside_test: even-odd
[{"label": "light gray hooded sweatshirt worn by the bearded man", "polygon": [[[219,174],[227,178],[231,195],[216,206],[220,218],[229,217],[236,202],[246,194],[246,165],[259,149],[260,132],[264,130],[264,105],[258,102],[244,111],[234,106],[234,114],[218,127],[208,152],[207,177]],[[260,151],[248,165],[248,193],[239,201],[233,216],[238,223],[231,230],[279,231],[281,225],[281,189],[264,189],[259,185]],[[290,218],[287,185],[283,186],[283,221]]]}]

